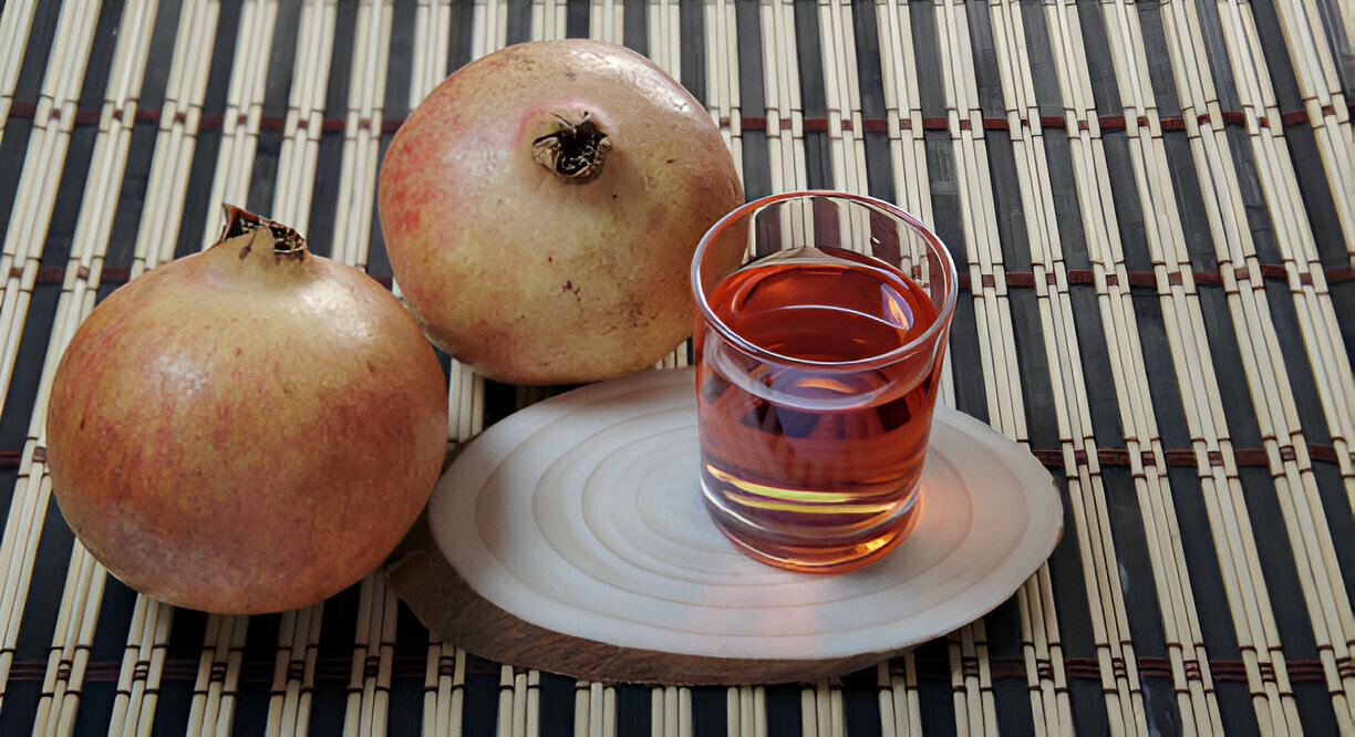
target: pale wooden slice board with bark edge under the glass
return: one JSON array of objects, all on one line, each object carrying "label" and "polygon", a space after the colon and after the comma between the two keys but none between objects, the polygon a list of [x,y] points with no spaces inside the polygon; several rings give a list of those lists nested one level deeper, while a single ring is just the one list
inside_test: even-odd
[{"label": "pale wooden slice board with bark edge under the glass", "polygon": [[392,587],[439,637],[500,662],[603,681],[798,681],[982,616],[1062,532],[1043,466],[938,406],[921,519],[894,551],[828,576],[755,562],[706,516],[692,382],[642,371],[492,425],[392,555]]}]

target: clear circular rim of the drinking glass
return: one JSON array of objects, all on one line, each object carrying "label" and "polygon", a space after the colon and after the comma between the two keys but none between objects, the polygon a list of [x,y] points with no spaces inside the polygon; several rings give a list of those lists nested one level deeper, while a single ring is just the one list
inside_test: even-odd
[{"label": "clear circular rim of the drinking glass", "polygon": [[[905,222],[923,236],[923,238],[928,244],[928,249],[936,255],[936,259],[942,264],[940,276],[943,278],[942,279],[943,285],[947,289],[944,301],[936,310],[936,320],[934,320],[932,324],[928,325],[921,335],[909,340],[908,343],[904,343],[902,345],[898,345],[897,348],[890,348],[889,351],[885,351],[882,354],[875,354],[867,358],[859,358],[852,360],[813,360],[813,359],[787,356],[785,354],[778,354],[775,351],[763,348],[762,345],[757,345],[756,343],[752,343],[744,336],[738,335],[729,325],[726,325],[725,321],[720,318],[720,316],[717,316],[710,309],[710,302],[706,299],[706,290],[703,289],[701,280],[701,260],[702,256],[706,253],[706,247],[711,243],[711,240],[717,234],[725,232],[725,229],[732,222],[745,215],[753,214],[759,210],[763,210],[771,205],[776,205],[779,202],[789,199],[813,199],[813,198],[848,201],[848,202],[855,202],[858,205],[864,205],[867,207],[873,207],[885,215]],[[898,268],[894,264],[889,266],[896,270]],[[725,276],[728,276],[728,274]],[[724,276],[721,276],[721,279],[724,279]],[[730,210],[722,218],[715,221],[715,224],[706,230],[706,233],[701,237],[701,241],[696,244],[696,251],[692,253],[691,259],[690,282],[691,282],[692,297],[696,301],[696,309],[701,313],[702,320],[714,325],[715,331],[726,341],[737,345],[741,351],[753,356],[766,358],[770,360],[793,366],[810,366],[822,368],[871,368],[875,366],[886,366],[889,363],[901,360],[912,354],[916,354],[921,347],[935,341],[938,333],[940,333],[950,325],[950,320],[955,312],[955,301],[959,291],[959,275],[955,271],[955,260],[950,256],[950,249],[946,247],[944,241],[942,241],[940,237],[931,228],[927,226],[927,224],[913,217],[902,207],[893,205],[890,202],[877,199],[869,195],[858,195],[852,192],[841,192],[835,190],[795,190],[790,192],[767,195],[751,202],[745,202],[744,205],[740,205],[738,207]],[[928,297],[931,297],[930,290],[928,290]]]}]

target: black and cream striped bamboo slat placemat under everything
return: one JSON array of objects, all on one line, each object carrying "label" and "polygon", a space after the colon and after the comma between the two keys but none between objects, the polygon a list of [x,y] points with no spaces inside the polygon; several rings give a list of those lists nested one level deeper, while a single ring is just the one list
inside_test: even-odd
[{"label": "black and cream striped bamboo slat placemat under everything", "polygon": [[[110,578],[42,446],[83,316],[214,240],[222,201],[390,285],[404,117],[581,35],[703,99],[749,196],[936,225],[943,397],[1054,474],[1049,564],[875,669],[741,688],[488,662],[379,574],[251,618]],[[1352,41],[1344,0],[0,0],[0,734],[1355,732]],[[549,396],[443,363],[453,442]]]}]

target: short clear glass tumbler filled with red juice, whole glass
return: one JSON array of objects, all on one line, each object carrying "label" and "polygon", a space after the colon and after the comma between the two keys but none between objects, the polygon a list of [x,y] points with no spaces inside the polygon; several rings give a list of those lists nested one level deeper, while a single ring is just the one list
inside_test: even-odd
[{"label": "short clear glass tumbler filled with red juice, whole glass", "polygon": [[912,531],[955,264],[898,207],[789,192],[711,226],[691,270],[701,481],[753,558],[874,561]]}]

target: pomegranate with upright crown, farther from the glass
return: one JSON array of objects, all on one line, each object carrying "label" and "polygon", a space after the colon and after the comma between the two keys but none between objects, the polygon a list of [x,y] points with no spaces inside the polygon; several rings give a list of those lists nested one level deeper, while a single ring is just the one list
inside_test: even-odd
[{"label": "pomegranate with upright crown, farther from the glass", "polygon": [[222,240],[111,294],[53,379],[66,522],[131,588],[247,614],[378,566],[446,452],[442,367],[398,299],[228,207]]}]

